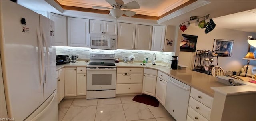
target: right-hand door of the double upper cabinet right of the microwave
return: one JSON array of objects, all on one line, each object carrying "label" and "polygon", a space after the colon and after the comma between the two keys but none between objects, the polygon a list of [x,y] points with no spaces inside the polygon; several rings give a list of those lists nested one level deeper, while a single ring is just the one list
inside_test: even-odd
[{"label": "right-hand door of the double upper cabinet right of the microwave", "polygon": [[136,25],[136,50],[151,50],[152,28],[152,26],[148,25]]}]

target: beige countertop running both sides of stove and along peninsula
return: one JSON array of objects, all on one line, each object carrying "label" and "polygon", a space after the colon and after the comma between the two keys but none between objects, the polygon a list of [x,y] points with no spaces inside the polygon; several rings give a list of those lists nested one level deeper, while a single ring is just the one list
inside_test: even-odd
[{"label": "beige countertop running both sides of stove and along peninsula", "polygon": [[[77,63],[69,63],[63,65],[57,65],[57,70],[63,67],[86,67],[90,62],[80,61]],[[177,79],[195,89],[206,93],[207,95],[214,97],[214,90],[211,87],[223,87],[226,86],[223,83],[217,81],[216,77],[207,75],[204,73],[199,73],[191,70],[171,70],[170,67],[161,66],[162,64],[156,63],[156,65],[151,65],[147,63],[146,65],[140,65],[142,63],[116,63],[116,66],[119,67],[144,67],[148,69],[157,69],[166,73],[170,77]],[[166,80],[167,81],[167,80]]]}]

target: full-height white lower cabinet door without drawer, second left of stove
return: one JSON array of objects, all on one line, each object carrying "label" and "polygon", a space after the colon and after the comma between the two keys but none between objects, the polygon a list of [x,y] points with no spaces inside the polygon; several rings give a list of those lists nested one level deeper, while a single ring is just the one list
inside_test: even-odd
[{"label": "full-height white lower cabinet door without drawer, second left of stove", "polygon": [[76,96],[76,67],[64,68],[65,97]]}]

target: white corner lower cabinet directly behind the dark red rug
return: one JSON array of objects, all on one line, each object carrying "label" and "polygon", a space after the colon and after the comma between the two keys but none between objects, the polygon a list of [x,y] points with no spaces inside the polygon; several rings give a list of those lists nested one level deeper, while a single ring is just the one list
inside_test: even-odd
[{"label": "white corner lower cabinet directly behind the dark red rug", "polygon": [[144,69],[142,93],[155,97],[157,70]]}]

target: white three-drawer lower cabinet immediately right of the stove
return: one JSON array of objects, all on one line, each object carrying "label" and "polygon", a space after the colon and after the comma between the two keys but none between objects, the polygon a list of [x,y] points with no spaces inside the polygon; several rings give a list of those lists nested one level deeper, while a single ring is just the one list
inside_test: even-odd
[{"label": "white three-drawer lower cabinet immediately right of the stove", "polygon": [[142,93],[143,68],[117,68],[116,94]]}]

